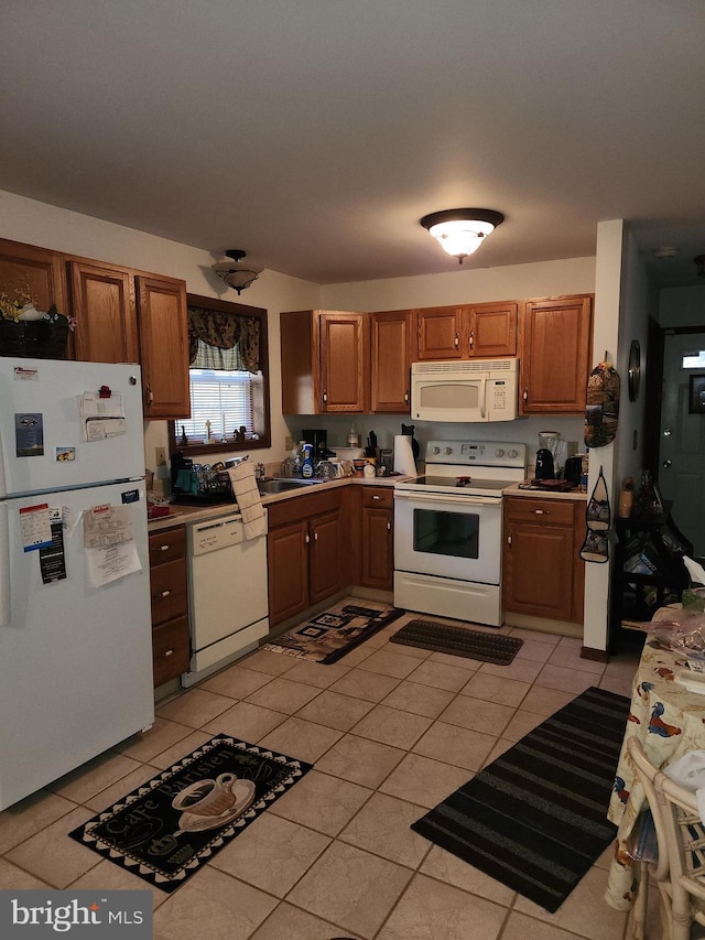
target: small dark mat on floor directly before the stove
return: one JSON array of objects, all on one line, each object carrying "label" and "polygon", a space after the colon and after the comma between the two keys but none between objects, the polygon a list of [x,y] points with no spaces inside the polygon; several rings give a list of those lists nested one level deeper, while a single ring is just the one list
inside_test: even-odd
[{"label": "small dark mat on floor directly before the stove", "polygon": [[505,634],[485,634],[467,627],[452,627],[434,620],[410,620],[390,638],[390,642],[464,656],[497,666],[509,666],[523,640]]}]

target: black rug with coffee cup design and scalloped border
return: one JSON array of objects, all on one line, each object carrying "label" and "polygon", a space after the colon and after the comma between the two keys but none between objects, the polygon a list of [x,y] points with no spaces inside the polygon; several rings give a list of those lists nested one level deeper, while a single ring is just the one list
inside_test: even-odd
[{"label": "black rug with coffee cup design and scalloped border", "polygon": [[68,834],[173,892],[312,766],[217,735]]}]

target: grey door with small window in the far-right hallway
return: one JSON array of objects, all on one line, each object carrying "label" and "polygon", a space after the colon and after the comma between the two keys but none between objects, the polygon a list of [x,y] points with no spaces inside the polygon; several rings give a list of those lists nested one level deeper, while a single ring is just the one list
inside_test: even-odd
[{"label": "grey door with small window in the far-right hallway", "polygon": [[[687,358],[694,367],[685,367]],[[705,410],[692,410],[703,407],[701,387],[705,389],[705,334],[666,334],[659,489],[663,499],[673,503],[673,520],[693,542],[696,555],[705,554]]]}]

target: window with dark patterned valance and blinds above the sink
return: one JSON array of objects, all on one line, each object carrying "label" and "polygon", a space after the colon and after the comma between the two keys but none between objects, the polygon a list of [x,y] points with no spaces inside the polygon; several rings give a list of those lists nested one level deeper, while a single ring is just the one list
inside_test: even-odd
[{"label": "window with dark patterned valance and blinds above the sink", "polygon": [[188,294],[191,418],[170,422],[171,451],[269,447],[267,311]]}]

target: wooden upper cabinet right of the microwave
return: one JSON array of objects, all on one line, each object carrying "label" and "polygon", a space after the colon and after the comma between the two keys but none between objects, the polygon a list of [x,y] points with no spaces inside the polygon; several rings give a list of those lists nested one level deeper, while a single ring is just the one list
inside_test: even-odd
[{"label": "wooden upper cabinet right of the microwave", "polygon": [[525,301],[519,353],[521,414],[585,411],[592,327],[592,294]]}]

